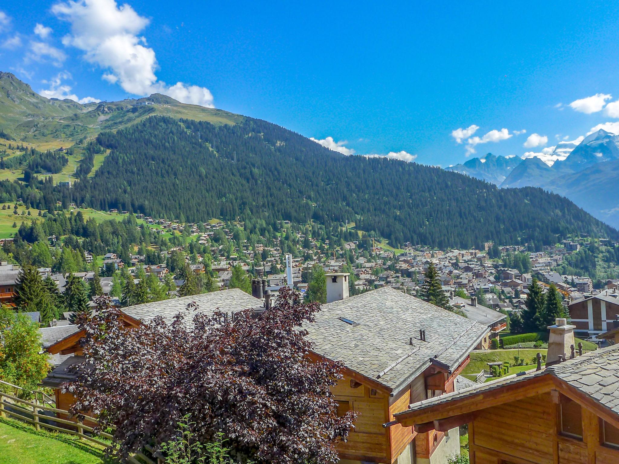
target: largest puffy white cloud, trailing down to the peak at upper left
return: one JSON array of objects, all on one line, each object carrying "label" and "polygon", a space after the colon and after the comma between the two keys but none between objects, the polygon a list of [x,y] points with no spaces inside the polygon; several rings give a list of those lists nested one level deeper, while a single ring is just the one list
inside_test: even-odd
[{"label": "largest puffy white cloud, trailing down to the peak at upper left", "polygon": [[155,51],[139,36],[149,20],[128,4],[115,0],[77,0],[55,4],[51,11],[71,23],[66,46],[84,51],[84,58],[105,71],[103,79],[119,84],[134,95],[164,93],[183,103],[213,108],[209,89],[177,82],[167,85],[157,80]]}]

